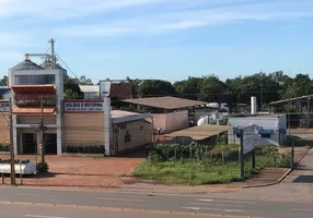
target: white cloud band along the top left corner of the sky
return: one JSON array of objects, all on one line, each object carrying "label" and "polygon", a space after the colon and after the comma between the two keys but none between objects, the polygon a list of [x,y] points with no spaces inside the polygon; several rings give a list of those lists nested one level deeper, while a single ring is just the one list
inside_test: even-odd
[{"label": "white cloud band along the top left corner of the sky", "polygon": [[38,19],[74,19],[111,10],[165,2],[166,0],[0,0],[0,17],[28,15]]}]

